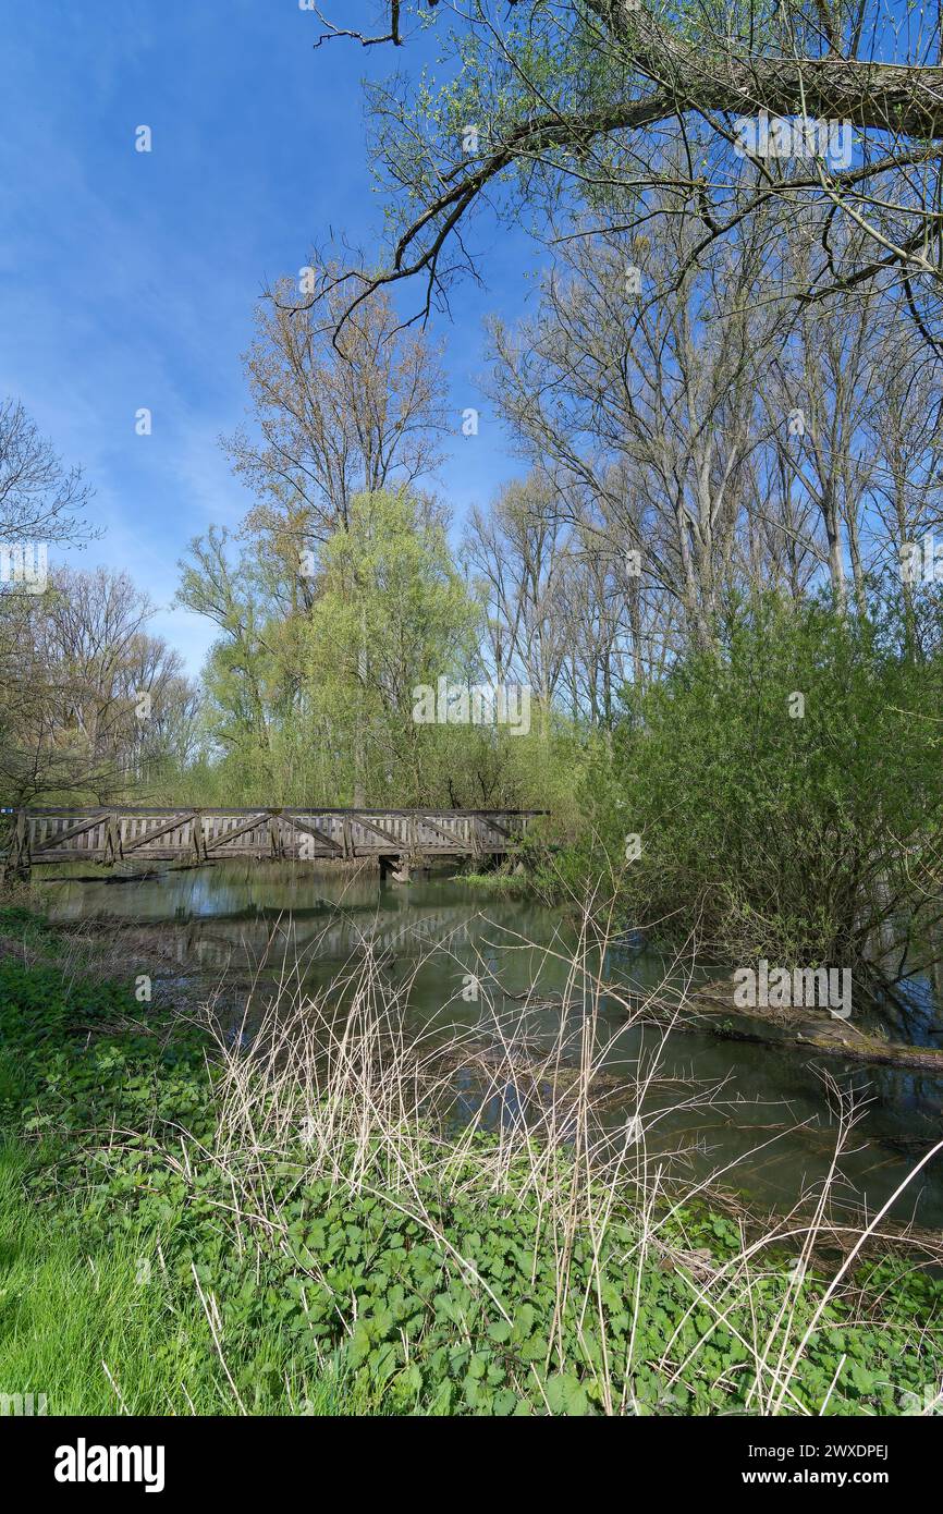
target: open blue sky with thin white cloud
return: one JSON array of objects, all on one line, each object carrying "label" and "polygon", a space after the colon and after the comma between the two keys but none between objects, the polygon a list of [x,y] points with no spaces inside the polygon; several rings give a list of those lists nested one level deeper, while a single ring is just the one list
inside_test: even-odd
[{"label": "open blue sky with thin white cloud", "polygon": [[[336,5],[344,24],[375,15]],[[330,229],[377,247],[360,80],[421,64],[415,48],[315,50],[319,30],[297,0],[5,0],[0,18],[0,394],[95,489],[103,536],[68,560],[130,572],[191,672],[212,627],[170,603],[186,542],[251,504],[218,436],[245,415],[254,303]],[[141,124],[151,153],[135,151]],[[465,283],[431,329],[456,422],[437,484],[459,519],[521,471],[474,380],[484,315],[521,313],[539,266],[522,235],[483,224],[475,245],[489,285]],[[478,438],[460,435],[468,404]]]}]

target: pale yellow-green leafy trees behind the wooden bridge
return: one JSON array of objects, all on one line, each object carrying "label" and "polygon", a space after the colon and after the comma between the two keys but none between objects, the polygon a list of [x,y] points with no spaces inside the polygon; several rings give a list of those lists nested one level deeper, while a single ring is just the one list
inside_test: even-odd
[{"label": "pale yellow-green leafy trees behind the wooden bridge", "polygon": [[530,731],[416,721],[418,687],[489,683],[483,606],[428,501],[363,494],[328,537],[307,609],[289,610],[265,563],[238,569],[213,533],[191,547],[180,600],[221,627],[204,669],[209,751],[168,780],[203,804],[442,804],[533,808],[572,801],[581,737],[533,710]]}]

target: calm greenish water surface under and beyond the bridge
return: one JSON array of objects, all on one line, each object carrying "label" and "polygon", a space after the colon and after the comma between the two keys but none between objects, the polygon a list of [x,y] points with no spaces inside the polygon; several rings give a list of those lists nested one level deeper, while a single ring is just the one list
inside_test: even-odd
[{"label": "calm greenish water surface under and beyond the bridge", "polygon": [[[247,970],[298,972],[307,989],[328,983],[365,940],[381,957],[394,984],[412,981],[409,1016],[415,1028],[460,1022],[483,1040],[493,1039],[493,1011],[463,999],[469,975],[487,983],[509,1014],[519,1014],[513,995],[537,984],[542,998],[566,989],[565,960],[574,927],[533,901],[483,896],[447,872],[409,886],[380,884],[374,872],[351,877],[342,868],[310,864],[218,863],[189,872],[114,884],[103,881],[48,883],[53,917],[117,922],[153,931],[176,943],[182,961],[197,961],[210,980],[244,978]],[[120,925],[117,927],[120,928]],[[652,951],[631,945],[610,948],[601,975],[639,989],[655,989],[671,967]],[[714,977],[698,967],[695,980]],[[507,995],[507,998],[504,998]],[[914,998],[913,1040],[937,1042],[932,996],[920,986]],[[559,1010],[527,1014],[527,1036],[551,1045]],[[578,1033],[580,996],[571,1008]],[[602,1034],[612,1037],[607,1064],[633,1073],[639,1057],[660,1040],[652,1030],[625,1028],[625,1011],[602,1007]],[[660,1114],[649,1151],[669,1155],[678,1175],[720,1173],[727,1188],[763,1205],[790,1207],[823,1178],[834,1149],[836,1116],[823,1075],[867,1101],[866,1114],[842,1163],[842,1204],[873,1213],[907,1176],[919,1157],[943,1134],[943,1083],[889,1067],[843,1064],[837,1058],[807,1058],[778,1048],[722,1040],[704,1034],[672,1034],[660,1057],[664,1079],[695,1079],[708,1107],[677,1110],[693,1089],[658,1084],[646,1116]],[[613,1123],[625,1107],[607,1114]],[[646,1119],[648,1123],[648,1119]],[[758,1149],[761,1148],[761,1149]],[[943,1161],[908,1187],[895,1208],[898,1220],[943,1226]]]}]

